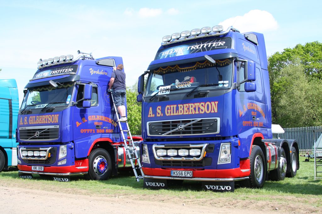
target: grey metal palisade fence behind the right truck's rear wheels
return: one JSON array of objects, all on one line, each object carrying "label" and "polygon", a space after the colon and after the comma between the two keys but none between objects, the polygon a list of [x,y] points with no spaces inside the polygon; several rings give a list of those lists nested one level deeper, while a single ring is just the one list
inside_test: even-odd
[{"label": "grey metal palisade fence behind the right truck's rear wheels", "polygon": [[322,133],[321,126],[285,128],[284,134],[273,134],[276,138],[295,139],[298,141],[300,153],[311,152],[314,142]]}]

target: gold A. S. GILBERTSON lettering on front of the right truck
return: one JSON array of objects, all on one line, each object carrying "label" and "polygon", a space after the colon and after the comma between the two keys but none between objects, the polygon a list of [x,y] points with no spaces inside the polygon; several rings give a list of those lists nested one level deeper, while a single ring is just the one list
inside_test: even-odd
[{"label": "gold A. S. GILBERTSON lettering on front of the right truck", "polygon": [[[164,109],[166,116],[209,114],[216,112],[218,112],[218,101],[167,105]],[[153,114],[153,109],[150,107],[148,117],[154,116],[155,114]],[[156,108],[156,116],[163,116],[161,106]]]}]

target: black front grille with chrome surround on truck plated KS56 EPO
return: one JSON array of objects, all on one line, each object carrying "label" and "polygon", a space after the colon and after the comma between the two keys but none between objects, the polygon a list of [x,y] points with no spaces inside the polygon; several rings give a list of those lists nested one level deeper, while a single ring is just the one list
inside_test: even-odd
[{"label": "black front grille with chrome surround on truck plated KS56 EPO", "polygon": [[176,136],[219,133],[219,118],[148,122],[149,136]]}]

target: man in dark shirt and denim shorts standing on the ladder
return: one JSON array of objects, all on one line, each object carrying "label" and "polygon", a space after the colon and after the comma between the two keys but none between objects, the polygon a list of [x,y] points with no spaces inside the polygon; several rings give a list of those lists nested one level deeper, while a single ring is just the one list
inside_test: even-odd
[{"label": "man in dark shirt and denim shorts standing on the ladder", "polygon": [[125,72],[123,70],[123,64],[118,64],[117,67],[113,67],[113,73],[111,75],[111,79],[109,81],[109,91],[113,87],[113,98],[114,104],[117,107],[118,113],[120,114],[120,122],[126,122],[126,109],[125,109],[125,94],[126,94],[126,86],[125,86]]}]

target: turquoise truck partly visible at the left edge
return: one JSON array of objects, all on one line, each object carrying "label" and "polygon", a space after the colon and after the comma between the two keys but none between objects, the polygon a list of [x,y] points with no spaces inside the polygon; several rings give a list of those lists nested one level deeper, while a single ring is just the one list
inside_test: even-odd
[{"label": "turquoise truck partly visible at the left edge", "polygon": [[16,128],[19,111],[17,83],[0,80],[0,172],[17,166]]}]

